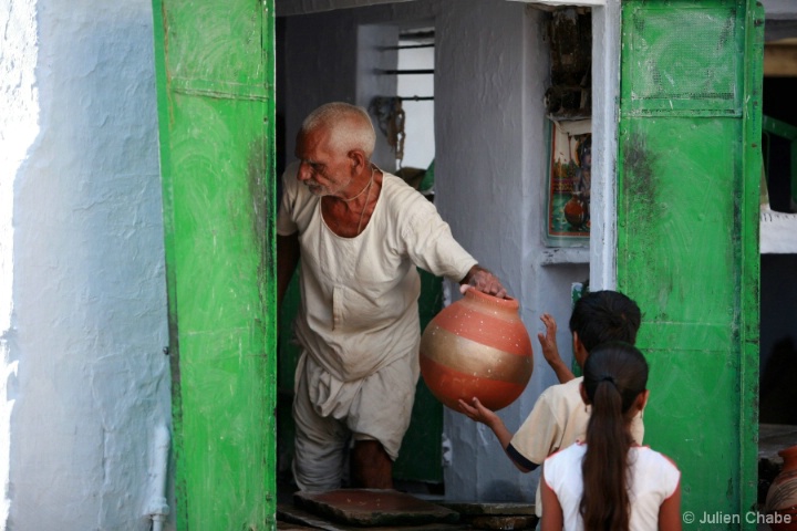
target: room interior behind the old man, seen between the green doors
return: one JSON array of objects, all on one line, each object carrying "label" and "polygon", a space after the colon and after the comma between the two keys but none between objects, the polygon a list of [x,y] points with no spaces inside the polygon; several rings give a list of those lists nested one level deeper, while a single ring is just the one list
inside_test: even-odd
[{"label": "room interior behind the old man, seen between the green doors", "polygon": [[[583,32],[589,9],[579,12],[582,33],[572,10],[570,39],[589,42],[591,35]],[[582,228],[580,238],[551,247],[546,235],[550,8],[506,1],[487,9],[485,2],[429,0],[310,13],[280,11],[278,6],[277,14],[277,111],[284,124],[280,160],[291,159],[301,117],[315,106],[341,100],[369,108],[379,129],[376,164],[415,177],[455,238],[506,279],[532,337],[542,331],[542,312],[566,323],[573,284],[589,278],[589,239]],[[575,84],[588,87],[589,62],[582,60],[581,69]],[[589,90],[577,86],[575,92],[560,90],[550,103],[566,108],[570,101],[571,107],[581,107],[563,121],[589,116]],[[403,127],[396,137],[397,124]],[[432,314],[451,300],[449,283],[438,288],[425,287],[422,294],[422,306],[424,298],[431,299]],[[281,319],[281,326],[286,321]],[[566,325],[559,334],[562,355],[571,356]],[[281,351],[281,363],[296,355],[284,342]],[[536,366],[541,364],[538,357]],[[289,362],[279,373],[280,397],[287,399],[292,385]],[[514,428],[553,382],[552,372],[535,371],[524,395],[504,413]],[[281,433],[290,437],[290,410],[282,405],[279,410]],[[532,501],[528,486],[536,475],[521,475],[497,459],[490,445],[474,444],[483,437],[475,423],[444,409],[423,384],[414,410],[395,470],[405,489],[432,497],[445,492],[459,499]],[[280,436],[279,444],[284,477],[290,439]],[[426,456],[428,461],[412,465],[404,455]],[[473,466],[451,466],[452,459]]]}]

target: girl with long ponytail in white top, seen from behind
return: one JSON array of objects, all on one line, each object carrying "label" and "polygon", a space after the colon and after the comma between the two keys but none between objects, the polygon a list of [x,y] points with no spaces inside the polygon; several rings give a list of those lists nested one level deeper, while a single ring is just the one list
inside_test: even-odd
[{"label": "girl with long ponytail in white top, seen from behind", "polygon": [[581,384],[592,409],[587,440],[545,461],[542,531],[681,530],[681,472],[631,437],[646,385],[648,362],[634,346],[608,343],[590,352]]}]

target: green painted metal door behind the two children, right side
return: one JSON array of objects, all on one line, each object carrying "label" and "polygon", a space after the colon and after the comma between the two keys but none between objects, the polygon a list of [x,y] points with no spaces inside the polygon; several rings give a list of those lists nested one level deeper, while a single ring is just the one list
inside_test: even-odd
[{"label": "green painted metal door behind the two children, right side", "polygon": [[[618,288],[644,319],[645,441],[682,471],[685,529],[755,529],[763,12],[622,4]],[[739,522],[700,524],[704,513]]]}]

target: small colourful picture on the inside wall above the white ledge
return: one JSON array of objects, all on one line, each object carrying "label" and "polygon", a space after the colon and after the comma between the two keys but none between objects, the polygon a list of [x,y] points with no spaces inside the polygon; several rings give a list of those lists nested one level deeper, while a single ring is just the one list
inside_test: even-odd
[{"label": "small colourful picture on the inside wall above the white ledge", "polygon": [[548,247],[588,247],[592,121],[548,121]]}]

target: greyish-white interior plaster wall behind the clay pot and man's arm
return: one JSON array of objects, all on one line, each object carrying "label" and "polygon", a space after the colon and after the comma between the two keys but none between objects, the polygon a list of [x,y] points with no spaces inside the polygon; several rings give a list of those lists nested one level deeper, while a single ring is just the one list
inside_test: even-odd
[{"label": "greyish-white interior plaster wall behind the clay pot and man's arm", "polygon": [[[561,352],[571,355],[570,285],[586,280],[588,267],[544,266],[542,96],[549,62],[542,13],[515,2],[458,6],[436,20],[437,54],[445,58],[437,61],[436,93],[447,96],[435,100],[435,201],[459,241],[520,300],[536,358],[527,389],[500,412],[515,431],[541,391],[555,383],[536,337],[542,331],[539,315],[557,319]],[[518,472],[488,428],[446,409],[445,430],[453,458],[447,496],[534,501],[537,475]],[[476,466],[466,466],[470,462]]]}]

